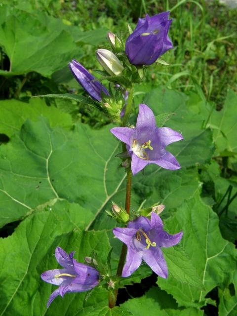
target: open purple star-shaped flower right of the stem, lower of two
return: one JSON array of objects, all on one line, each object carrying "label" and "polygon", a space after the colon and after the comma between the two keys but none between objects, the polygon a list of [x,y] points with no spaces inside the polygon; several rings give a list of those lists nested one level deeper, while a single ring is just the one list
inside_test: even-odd
[{"label": "open purple star-shaped flower right of the stem, lower of two", "polygon": [[152,212],[151,221],[140,216],[128,223],[127,228],[113,229],[114,235],[127,245],[126,263],[122,276],[130,276],[138,269],[142,259],[161,277],[168,276],[167,265],[160,247],[176,245],[183,233],[169,235],[163,230],[160,217]]}]

